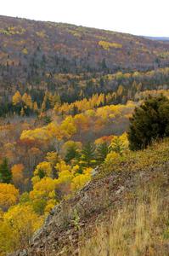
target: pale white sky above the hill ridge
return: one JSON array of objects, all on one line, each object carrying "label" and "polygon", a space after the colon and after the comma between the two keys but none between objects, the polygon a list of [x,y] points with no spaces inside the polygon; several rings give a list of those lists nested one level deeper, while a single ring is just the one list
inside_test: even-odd
[{"label": "pale white sky above the hill ridge", "polygon": [[0,15],[169,37],[169,0],[0,0]]}]

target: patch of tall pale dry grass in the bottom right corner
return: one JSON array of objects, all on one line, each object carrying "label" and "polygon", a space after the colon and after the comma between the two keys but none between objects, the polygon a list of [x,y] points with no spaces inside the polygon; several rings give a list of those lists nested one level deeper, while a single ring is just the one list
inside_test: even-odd
[{"label": "patch of tall pale dry grass in the bottom right corner", "polygon": [[169,201],[163,193],[159,184],[138,189],[137,199],[96,226],[92,239],[83,237],[79,256],[169,255]]}]

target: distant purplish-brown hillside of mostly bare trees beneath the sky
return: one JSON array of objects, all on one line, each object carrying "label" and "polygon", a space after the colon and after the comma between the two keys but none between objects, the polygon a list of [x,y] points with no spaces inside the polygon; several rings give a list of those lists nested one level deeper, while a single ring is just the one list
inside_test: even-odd
[{"label": "distant purplish-brown hillside of mostly bare trees beneath the sky", "polygon": [[107,81],[106,74],[146,72],[168,63],[167,42],[0,16],[1,102],[10,101],[16,90],[29,92],[39,104],[46,90],[75,101],[115,90],[119,81]]}]

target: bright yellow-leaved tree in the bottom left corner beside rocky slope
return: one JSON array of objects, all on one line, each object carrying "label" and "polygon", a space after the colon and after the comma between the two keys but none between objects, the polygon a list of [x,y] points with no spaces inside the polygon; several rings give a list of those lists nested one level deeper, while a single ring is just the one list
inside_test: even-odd
[{"label": "bright yellow-leaved tree in the bottom left corner beside rocky slope", "polygon": [[11,207],[0,220],[0,255],[28,247],[31,236],[41,227],[42,220],[30,205]]}]

